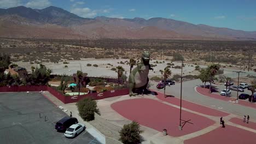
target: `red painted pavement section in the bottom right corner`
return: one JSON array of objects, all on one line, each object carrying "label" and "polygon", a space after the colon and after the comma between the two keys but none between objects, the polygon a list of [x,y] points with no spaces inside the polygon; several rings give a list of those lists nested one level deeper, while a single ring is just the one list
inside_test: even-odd
[{"label": "red painted pavement section in the bottom right corner", "polygon": [[184,144],[255,144],[255,137],[256,133],[226,125],[226,128],[219,127],[204,135],[185,140]]}]

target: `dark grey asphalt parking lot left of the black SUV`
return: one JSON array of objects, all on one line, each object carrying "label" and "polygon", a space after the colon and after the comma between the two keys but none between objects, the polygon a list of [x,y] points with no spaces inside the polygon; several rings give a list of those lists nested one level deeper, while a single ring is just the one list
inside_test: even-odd
[{"label": "dark grey asphalt parking lot left of the black SUV", "polygon": [[57,132],[67,115],[40,93],[0,93],[0,117],[0,143],[100,143],[86,130],[74,139]]}]

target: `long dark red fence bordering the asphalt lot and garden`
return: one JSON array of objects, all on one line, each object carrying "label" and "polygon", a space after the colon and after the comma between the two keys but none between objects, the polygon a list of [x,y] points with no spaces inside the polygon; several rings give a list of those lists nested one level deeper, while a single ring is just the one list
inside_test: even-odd
[{"label": "long dark red fence bordering the asphalt lot and garden", "polygon": [[74,96],[65,96],[61,93],[57,92],[54,88],[47,87],[47,86],[12,86],[12,87],[0,87],[0,92],[39,92],[39,91],[48,91],[49,93],[53,94],[54,97],[61,100],[62,103],[75,103],[80,99],[90,97],[92,99],[104,99],[110,97],[117,97],[120,95],[129,94],[129,89],[118,89],[112,91],[106,91],[102,93],[89,93],[85,95],[74,95]]}]

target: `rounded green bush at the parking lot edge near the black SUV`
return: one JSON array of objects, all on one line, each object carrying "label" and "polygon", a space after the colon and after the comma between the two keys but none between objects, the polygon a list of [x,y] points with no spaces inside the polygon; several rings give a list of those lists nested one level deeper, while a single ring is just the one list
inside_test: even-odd
[{"label": "rounded green bush at the parking lot edge near the black SUV", "polygon": [[100,110],[97,109],[97,102],[91,98],[79,100],[76,105],[78,107],[79,115],[84,121],[92,121],[95,118],[94,113],[100,113]]}]

